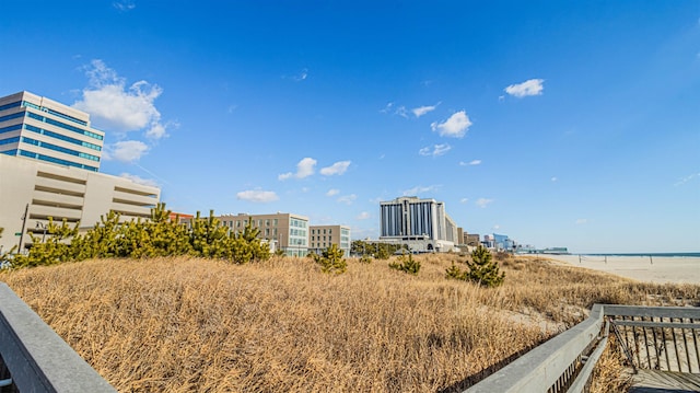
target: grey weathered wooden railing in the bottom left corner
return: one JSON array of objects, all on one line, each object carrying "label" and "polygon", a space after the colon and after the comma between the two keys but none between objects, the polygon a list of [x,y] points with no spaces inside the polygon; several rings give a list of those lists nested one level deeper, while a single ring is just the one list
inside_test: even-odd
[{"label": "grey weathered wooden railing in the bottom left corner", "polygon": [[116,392],[4,282],[0,282],[1,392]]}]

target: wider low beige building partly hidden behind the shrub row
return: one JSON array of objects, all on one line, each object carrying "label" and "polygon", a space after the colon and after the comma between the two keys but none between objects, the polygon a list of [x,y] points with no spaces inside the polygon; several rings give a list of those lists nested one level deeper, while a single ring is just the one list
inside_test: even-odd
[{"label": "wider low beige building partly hidden behind the shrub row", "polygon": [[259,229],[258,238],[270,244],[270,251],[282,250],[289,256],[308,254],[308,218],[288,212],[275,215],[223,215],[217,219],[232,232],[243,232],[248,220]]}]

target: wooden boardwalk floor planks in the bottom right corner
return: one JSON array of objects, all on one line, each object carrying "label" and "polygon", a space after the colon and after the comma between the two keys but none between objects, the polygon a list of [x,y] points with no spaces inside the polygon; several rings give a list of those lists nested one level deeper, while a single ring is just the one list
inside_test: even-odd
[{"label": "wooden boardwalk floor planks in the bottom right corner", "polygon": [[632,377],[630,393],[700,392],[700,374],[657,370],[639,370]]}]

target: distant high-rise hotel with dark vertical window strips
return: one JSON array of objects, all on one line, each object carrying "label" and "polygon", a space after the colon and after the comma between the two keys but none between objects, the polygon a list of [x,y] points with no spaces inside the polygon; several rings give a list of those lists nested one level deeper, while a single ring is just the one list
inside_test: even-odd
[{"label": "distant high-rise hotel with dark vertical window strips", "polygon": [[444,203],[399,197],[380,203],[380,241],[421,252],[447,252],[457,242],[457,226]]}]

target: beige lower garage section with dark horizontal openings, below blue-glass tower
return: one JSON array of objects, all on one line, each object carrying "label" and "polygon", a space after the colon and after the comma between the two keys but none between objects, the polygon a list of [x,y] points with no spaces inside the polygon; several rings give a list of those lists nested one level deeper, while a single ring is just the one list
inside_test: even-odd
[{"label": "beige lower garage section with dark horizontal openings, below blue-glass tower", "polygon": [[49,217],[83,229],[109,211],[122,221],[150,218],[160,194],[119,176],[0,154],[0,247],[31,246],[27,233],[44,232]]}]

